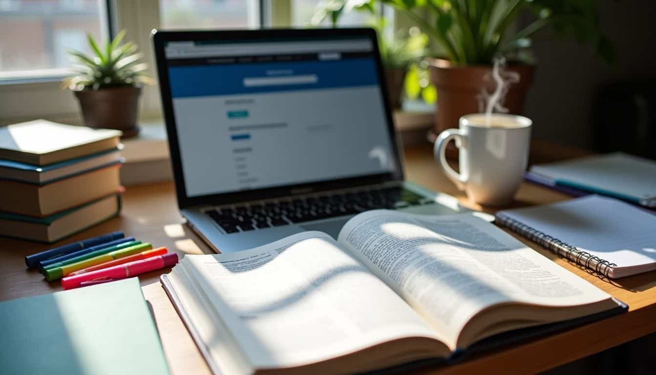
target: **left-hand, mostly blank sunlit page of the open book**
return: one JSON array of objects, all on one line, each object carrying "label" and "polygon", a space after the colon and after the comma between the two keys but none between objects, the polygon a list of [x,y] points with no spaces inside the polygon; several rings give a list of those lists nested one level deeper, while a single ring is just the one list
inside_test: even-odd
[{"label": "left-hand, mostly blank sunlit page of the open book", "polygon": [[440,340],[322,232],[183,262],[256,368],[300,366],[403,337]]}]

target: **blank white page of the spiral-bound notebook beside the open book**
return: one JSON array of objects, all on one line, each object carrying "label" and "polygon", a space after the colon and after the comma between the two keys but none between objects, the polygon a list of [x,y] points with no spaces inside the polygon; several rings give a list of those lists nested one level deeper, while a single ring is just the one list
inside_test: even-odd
[{"label": "blank white page of the spiral-bound notebook beside the open book", "polygon": [[619,200],[590,195],[502,213],[618,267],[656,262],[656,215]]}]

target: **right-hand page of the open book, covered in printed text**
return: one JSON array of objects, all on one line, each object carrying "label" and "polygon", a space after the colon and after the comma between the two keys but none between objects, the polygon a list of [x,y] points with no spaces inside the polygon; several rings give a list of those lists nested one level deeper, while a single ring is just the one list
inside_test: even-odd
[{"label": "right-hand page of the open book, covered in printed text", "polygon": [[351,219],[344,244],[455,345],[464,325],[504,302],[580,305],[609,298],[543,255],[470,214],[375,210]]}]

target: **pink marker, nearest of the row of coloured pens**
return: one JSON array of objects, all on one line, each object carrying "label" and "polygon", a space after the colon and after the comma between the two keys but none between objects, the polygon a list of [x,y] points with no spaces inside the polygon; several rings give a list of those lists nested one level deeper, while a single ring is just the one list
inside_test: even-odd
[{"label": "pink marker, nearest of the row of coloured pens", "polygon": [[156,269],[170,267],[176,263],[178,263],[178,254],[169,253],[157,255],[139,261],[115,265],[114,267],[106,269],[99,269],[97,271],[82,273],[80,275],[64,277],[62,278],[62,287],[64,287],[64,289],[73,289],[79,286],[100,284],[100,282],[133,277],[141,275],[142,273],[155,271]]}]

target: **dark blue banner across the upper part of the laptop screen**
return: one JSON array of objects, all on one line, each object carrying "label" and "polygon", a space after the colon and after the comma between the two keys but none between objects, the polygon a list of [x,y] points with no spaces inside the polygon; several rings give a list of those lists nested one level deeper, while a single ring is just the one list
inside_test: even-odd
[{"label": "dark blue banner across the upper part of the laptop screen", "polygon": [[172,66],[174,98],[376,85],[373,58],[336,61]]}]

